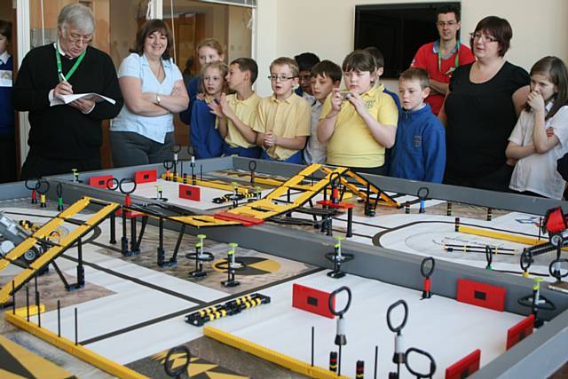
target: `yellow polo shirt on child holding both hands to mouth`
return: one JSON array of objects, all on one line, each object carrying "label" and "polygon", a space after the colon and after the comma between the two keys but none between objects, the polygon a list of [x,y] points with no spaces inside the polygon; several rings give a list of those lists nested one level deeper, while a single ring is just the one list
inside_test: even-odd
[{"label": "yellow polo shirt on child holding both hands to mouth", "polygon": [[[378,86],[363,93],[365,107],[383,125],[397,126],[398,108],[390,95]],[[331,110],[331,97],[323,105],[319,120],[326,118]],[[344,101],[337,119],[335,130],[327,141],[327,163],[344,167],[381,167],[384,163],[384,146],[379,144],[365,121],[349,101]]]}]

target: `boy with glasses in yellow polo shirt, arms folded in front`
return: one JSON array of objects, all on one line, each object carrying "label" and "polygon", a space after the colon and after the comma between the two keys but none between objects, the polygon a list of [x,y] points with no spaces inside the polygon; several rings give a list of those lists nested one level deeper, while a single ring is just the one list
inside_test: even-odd
[{"label": "boy with glasses in yellow polo shirt, arms folded in front", "polygon": [[302,149],[310,136],[310,105],[294,93],[299,68],[281,57],[270,65],[272,96],[260,100],[253,130],[262,159],[302,164]]}]

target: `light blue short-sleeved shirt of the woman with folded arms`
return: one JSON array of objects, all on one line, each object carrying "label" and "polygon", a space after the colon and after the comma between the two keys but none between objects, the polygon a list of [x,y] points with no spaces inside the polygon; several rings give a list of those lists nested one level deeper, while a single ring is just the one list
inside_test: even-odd
[{"label": "light blue short-sleeved shirt of the woman with folded arms", "polygon": [[[142,92],[155,92],[170,95],[177,81],[182,81],[183,77],[179,68],[173,61],[162,59],[164,79],[158,82],[154,73],[150,69],[148,59],[144,54],[131,53],[122,60],[121,67],[118,69],[118,77],[136,77],[142,82]],[[122,107],[121,113],[111,123],[112,131],[132,131],[141,136],[150,138],[161,144],[166,139],[166,134],[174,131],[174,114],[162,114],[158,116],[146,116],[130,112],[128,107]]]}]

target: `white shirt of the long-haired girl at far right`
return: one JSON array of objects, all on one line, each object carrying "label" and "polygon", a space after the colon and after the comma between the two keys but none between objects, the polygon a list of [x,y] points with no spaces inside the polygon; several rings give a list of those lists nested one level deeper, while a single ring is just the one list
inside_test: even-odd
[{"label": "white shirt of the long-haired girl at far right", "polygon": [[[552,102],[547,105],[547,113]],[[552,128],[559,142],[544,154],[534,153],[518,160],[511,176],[509,188],[519,192],[530,191],[551,199],[561,199],[564,179],[556,171],[556,161],[568,153],[568,106],[561,107],[549,118],[544,128]],[[509,141],[518,146],[533,145],[534,114],[524,110]]]}]

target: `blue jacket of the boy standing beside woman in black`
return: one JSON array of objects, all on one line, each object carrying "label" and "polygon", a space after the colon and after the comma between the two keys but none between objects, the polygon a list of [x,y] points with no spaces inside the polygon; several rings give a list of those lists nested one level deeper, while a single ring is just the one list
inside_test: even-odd
[{"label": "blue jacket of the boy standing beside woman in black", "polygon": [[446,130],[428,104],[398,114],[390,176],[441,183],[446,167]]}]

